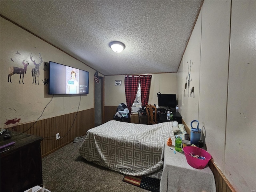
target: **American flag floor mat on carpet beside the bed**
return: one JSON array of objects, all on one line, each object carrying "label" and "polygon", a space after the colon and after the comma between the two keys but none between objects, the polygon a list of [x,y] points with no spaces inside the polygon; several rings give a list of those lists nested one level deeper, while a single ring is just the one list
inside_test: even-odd
[{"label": "American flag floor mat on carpet beside the bed", "polygon": [[160,180],[151,177],[126,175],[123,181],[152,192],[159,192],[160,188]]}]

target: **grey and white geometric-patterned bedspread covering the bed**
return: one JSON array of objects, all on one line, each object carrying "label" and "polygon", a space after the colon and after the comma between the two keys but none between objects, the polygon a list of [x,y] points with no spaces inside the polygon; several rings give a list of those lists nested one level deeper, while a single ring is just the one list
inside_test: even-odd
[{"label": "grey and white geometric-patterned bedspread covering the bed", "polygon": [[154,125],[111,120],[86,132],[79,152],[88,161],[132,176],[161,178],[161,154],[172,122]]}]

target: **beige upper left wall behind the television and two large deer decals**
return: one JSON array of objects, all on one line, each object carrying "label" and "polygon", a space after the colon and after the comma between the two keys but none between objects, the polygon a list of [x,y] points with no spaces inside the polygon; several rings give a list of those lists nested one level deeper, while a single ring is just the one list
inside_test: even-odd
[{"label": "beige upper left wall behind the television and two large deer decals", "polygon": [[[19,124],[36,121],[42,114],[45,106],[51,101],[52,95],[48,95],[48,86],[44,86],[42,80],[48,78],[48,68],[44,63],[40,66],[39,85],[32,84],[31,70],[34,67],[30,60],[32,53],[33,59],[39,62],[39,53],[44,62],[57,62],[66,64],[81,70],[89,71],[89,94],[78,96],[54,95],[50,104],[44,110],[40,119],[59,116],[86,110],[94,107],[94,70],[82,62],[68,56],[64,52],[54,48],[50,44],[26,32],[22,28],[12,24],[1,17],[1,86],[0,86],[0,113],[1,128],[7,120],[20,118]],[[19,54],[16,54],[18,50]],[[14,60],[14,62],[11,61]],[[9,68],[16,66],[24,68],[22,61],[28,61],[27,72],[24,75],[24,84],[19,84],[19,74],[12,75],[12,83],[7,82]],[[45,71],[44,71],[45,69]],[[12,125],[10,125],[12,126]]]}]

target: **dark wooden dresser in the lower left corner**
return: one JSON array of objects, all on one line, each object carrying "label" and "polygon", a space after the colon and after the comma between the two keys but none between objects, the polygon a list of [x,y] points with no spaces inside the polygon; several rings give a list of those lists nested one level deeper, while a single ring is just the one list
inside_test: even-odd
[{"label": "dark wooden dresser in the lower left corner", "polygon": [[1,138],[1,146],[15,142],[8,151],[1,152],[1,192],[24,192],[43,184],[42,140],[42,137],[20,132],[12,132],[10,139]]}]

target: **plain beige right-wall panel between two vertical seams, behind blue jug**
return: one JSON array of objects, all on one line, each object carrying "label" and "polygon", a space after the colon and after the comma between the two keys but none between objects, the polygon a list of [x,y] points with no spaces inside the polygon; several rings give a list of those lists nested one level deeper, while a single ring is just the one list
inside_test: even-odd
[{"label": "plain beige right-wall panel between two vertical seams, behind blue jug", "polygon": [[230,1],[206,1],[202,9],[199,118],[206,128],[208,150],[215,154],[221,170],[225,163],[230,6]]}]

